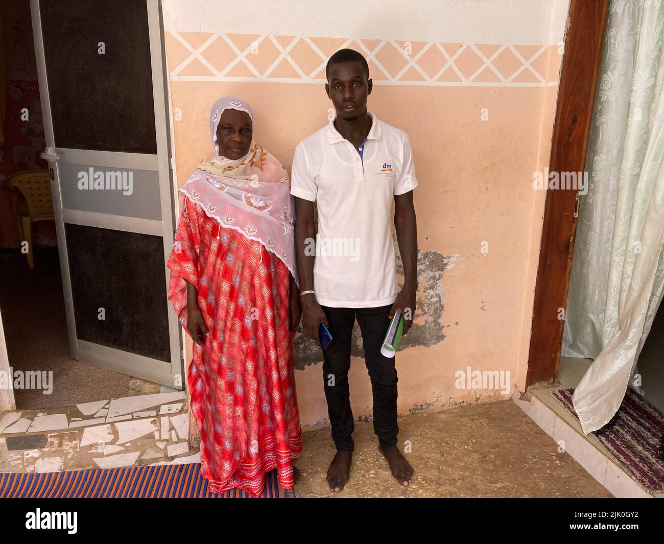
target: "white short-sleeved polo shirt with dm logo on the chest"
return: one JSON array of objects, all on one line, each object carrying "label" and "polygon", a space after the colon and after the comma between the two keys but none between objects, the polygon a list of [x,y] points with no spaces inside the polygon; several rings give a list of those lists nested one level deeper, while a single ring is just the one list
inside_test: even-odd
[{"label": "white short-sleeved polo shirt with dm logo on the chest", "polygon": [[406,133],[369,116],[363,157],[334,118],[295,148],[291,195],[318,209],[313,290],[322,306],[374,308],[397,295],[392,199],[418,182]]}]

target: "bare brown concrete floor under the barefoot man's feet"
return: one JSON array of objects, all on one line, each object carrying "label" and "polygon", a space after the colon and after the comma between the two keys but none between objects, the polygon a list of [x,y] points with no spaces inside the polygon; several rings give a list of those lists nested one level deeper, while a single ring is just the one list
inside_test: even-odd
[{"label": "bare brown concrete floor under the barefoot man's feet", "polygon": [[399,419],[399,444],[410,440],[406,458],[415,469],[408,488],[392,478],[377,450],[371,423],[356,423],[351,481],[329,491],[325,472],[334,448],[329,429],[305,433],[302,498],[406,497],[604,497],[598,484],[513,401],[499,401]]}]

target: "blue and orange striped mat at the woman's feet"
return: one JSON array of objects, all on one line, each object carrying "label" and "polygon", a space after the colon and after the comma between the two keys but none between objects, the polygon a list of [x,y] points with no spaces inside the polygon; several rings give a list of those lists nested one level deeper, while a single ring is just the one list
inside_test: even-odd
[{"label": "blue and orange striped mat at the woman's feet", "polygon": [[[0,473],[0,498],[251,498],[237,488],[208,492],[201,464],[131,466],[104,470]],[[279,498],[276,470],[266,476],[263,498]]]}]

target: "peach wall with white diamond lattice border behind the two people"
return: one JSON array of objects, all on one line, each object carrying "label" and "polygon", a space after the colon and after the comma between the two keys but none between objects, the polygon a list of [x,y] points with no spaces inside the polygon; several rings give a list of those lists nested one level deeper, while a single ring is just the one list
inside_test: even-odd
[{"label": "peach wall with white diamond lattice border behind the two people", "polygon": [[[408,132],[420,183],[420,286],[415,325],[397,355],[400,414],[523,390],[545,195],[532,180],[548,164],[563,26],[552,29],[552,21],[564,22],[567,3],[551,0],[550,12],[531,15],[540,26],[529,27],[530,41],[519,41],[524,33],[511,17],[496,15],[486,23],[493,34],[469,27],[454,43],[374,27],[363,29],[367,38],[358,29],[330,37],[323,23],[320,34],[284,35],[286,23],[267,15],[252,21],[254,33],[192,31],[197,17],[210,17],[211,3],[195,2],[186,15],[173,1],[164,5],[180,183],[210,156],[208,108],[216,98],[234,94],[252,104],[257,141],[290,169],[297,142],[327,122],[327,56],[349,46],[369,58],[369,109]],[[503,39],[482,40],[496,33]],[[303,424],[325,424],[321,353],[304,337],[295,348]],[[355,416],[365,417],[371,385],[360,341],[353,353],[351,401]],[[457,373],[467,367],[498,371],[509,383],[502,392],[459,388]]]}]

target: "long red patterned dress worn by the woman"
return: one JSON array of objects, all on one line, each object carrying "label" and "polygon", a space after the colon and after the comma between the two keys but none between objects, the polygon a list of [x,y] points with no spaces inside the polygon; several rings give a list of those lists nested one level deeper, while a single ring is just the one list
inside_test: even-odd
[{"label": "long red patterned dress worn by the woman", "polygon": [[212,493],[262,494],[264,476],[293,488],[302,450],[288,329],[290,272],[257,240],[220,226],[185,197],[169,257],[168,298],[187,325],[187,284],[210,335],[193,344],[187,372],[191,413],[201,432],[201,470]]}]

